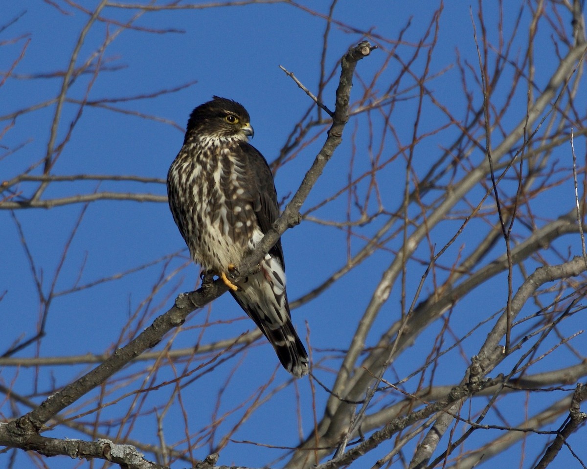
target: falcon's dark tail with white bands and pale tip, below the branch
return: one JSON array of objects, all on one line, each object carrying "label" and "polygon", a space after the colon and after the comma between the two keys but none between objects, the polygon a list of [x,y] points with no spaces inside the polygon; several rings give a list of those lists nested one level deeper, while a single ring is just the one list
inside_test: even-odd
[{"label": "falcon's dark tail with white bands and pale tip, below the branch", "polygon": [[295,332],[285,292],[285,274],[269,256],[261,269],[239,282],[232,293],[275,349],[279,361],[295,377],[308,374],[308,353]]}]

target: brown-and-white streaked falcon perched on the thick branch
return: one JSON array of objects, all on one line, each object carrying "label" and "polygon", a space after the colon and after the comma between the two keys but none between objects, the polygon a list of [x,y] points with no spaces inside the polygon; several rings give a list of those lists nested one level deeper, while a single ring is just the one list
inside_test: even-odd
[{"label": "brown-and-white streaked falcon perched on the thick branch", "polygon": [[281,240],[258,271],[234,285],[227,278],[279,216],[271,170],[248,143],[252,136],[241,104],[214,96],[196,107],[167,174],[169,206],[194,261],[222,278],[285,369],[300,377],[308,355],[291,322]]}]

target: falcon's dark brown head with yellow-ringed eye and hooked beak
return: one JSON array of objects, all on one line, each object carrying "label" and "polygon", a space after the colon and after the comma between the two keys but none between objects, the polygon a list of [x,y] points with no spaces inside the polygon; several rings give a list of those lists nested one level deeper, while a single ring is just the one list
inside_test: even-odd
[{"label": "falcon's dark brown head with yellow-ringed eye and hooked beak", "polygon": [[185,141],[191,137],[247,141],[254,135],[247,110],[239,103],[214,96],[190,114]]}]

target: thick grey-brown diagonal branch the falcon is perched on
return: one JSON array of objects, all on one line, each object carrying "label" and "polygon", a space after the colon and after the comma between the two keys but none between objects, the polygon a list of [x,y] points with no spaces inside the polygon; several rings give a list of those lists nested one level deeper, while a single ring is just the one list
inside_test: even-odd
[{"label": "thick grey-brown diagonal branch the falcon is perched on", "polygon": [[[274,223],[272,229],[261,240],[258,247],[239,266],[241,276],[248,275],[249,272],[253,271],[262,256],[269,251],[279,237],[288,228],[299,223],[299,211],[303,202],[322,174],[336,147],[342,141],[343,129],[349,120],[349,97],[356,64],[360,59],[369,55],[373,49],[375,47],[368,42],[361,42],[359,45],[350,48],[343,56],[340,82],[336,90],[336,107],[332,127],[328,131],[328,138],[322,150],[316,156],[312,167],[303,178],[298,191],[285,208],[284,213]],[[53,416],[105,382],[110,376],[129,363],[130,360],[139,356],[145,350],[156,346],[167,332],[183,324],[185,318],[191,312],[203,307],[225,291],[227,291],[227,286],[224,285],[224,282],[217,281],[213,284],[207,284],[195,292],[178,296],[173,308],[156,318],[147,329],[131,340],[129,344],[115,350],[113,355],[101,365],[75,382],[63,387],[59,392],[49,396],[39,407],[28,414],[6,424],[4,431],[0,434],[0,444],[8,447],[22,447],[22,442],[26,441],[26,449],[42,451],[42,445],[36,445],[35,438],[39,438],[38,433],[43,430],[45,424]]]}]

